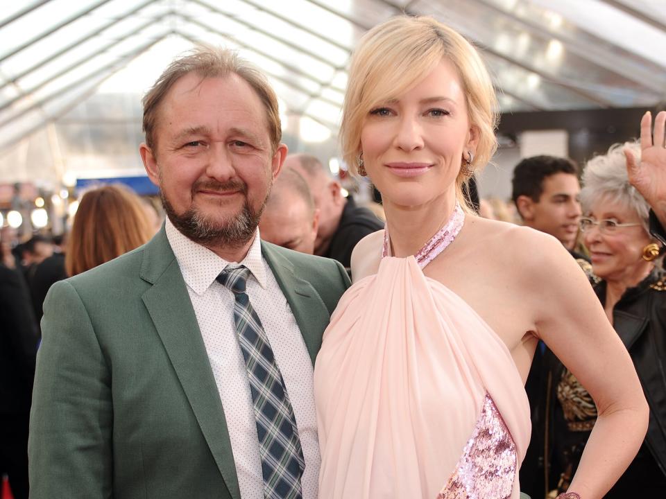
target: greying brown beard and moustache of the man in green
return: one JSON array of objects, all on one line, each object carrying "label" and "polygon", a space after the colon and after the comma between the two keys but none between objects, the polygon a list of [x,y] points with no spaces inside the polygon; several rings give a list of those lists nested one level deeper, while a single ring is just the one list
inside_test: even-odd
[{"label": "greying brown beard and moustache of the man in green", "polygon": [[[236,248],[248,243],[257,230],[259,218],[261,218],[266,206],[270,189],[268,189],[266,198],[264,198],[257,210],[250,205],[248,200],[248,186],[245,182],[238,180],[230,180],[228,182],[197,182],[192,187],[191,198],[193,200],[194,193],[200,189],[205,189],[206,191],[239,191],[244,197],[240,213],[230,218],[230,220],[217,222],[212,217],[205,216],[194,206],[190,206],[185,212],[178,215],[169,200],[164,196],[164,191],[160,189],[162,206],[173,226],[181,234],[203,246],[221,245]],[[222,210],[223,208],[221,207],[220,209]]]}]

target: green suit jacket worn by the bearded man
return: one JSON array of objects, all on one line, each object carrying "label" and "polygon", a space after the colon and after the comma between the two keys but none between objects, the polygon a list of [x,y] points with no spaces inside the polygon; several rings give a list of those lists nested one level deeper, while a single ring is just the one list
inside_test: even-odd
[{"label": "green suit jacket worn by the bearded man", "polygon": [[[314,362],[347,274],[268,243],[262,254]],[[53,285],[30,425],[31,498],[241,499],[218,389],[164,227]]]}]

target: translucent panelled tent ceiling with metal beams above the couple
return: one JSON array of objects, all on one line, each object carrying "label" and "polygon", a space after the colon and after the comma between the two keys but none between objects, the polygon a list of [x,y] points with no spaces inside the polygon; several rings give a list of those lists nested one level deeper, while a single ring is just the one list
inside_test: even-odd
[{"label": "translucent panelled tent ceiling with metal beams above the couple", "polygon": [[[666,1],[13,1],[0,15],[0,162],[47,123],[71,154],[109,139],[97,130],[104,123],[129,144],[123,150],[135,149],[141,96],[197,42],[237,49],[266,73],[287,137],[318,126],[313,137],[334,140],[352,49],[403,9],[434,15],[484,51],[503,112],[647,107],[666,98]],[[119,105],[126,102],[134,104]],[[86,145],[71,143],[86,125],[97,130],[85,132]]]}]

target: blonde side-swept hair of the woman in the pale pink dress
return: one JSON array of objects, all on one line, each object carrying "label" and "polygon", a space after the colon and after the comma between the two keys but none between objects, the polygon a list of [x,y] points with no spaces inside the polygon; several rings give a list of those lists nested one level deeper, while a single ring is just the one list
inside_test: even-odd
[{"label": "blonde side-swept hair of the woman in the pale pink dress", "polygon": [[[414,87],[443,59],[458,72],[470,125],[479,132],[472,168],[488,164],[497,150],[497,97],[481,56],[462,35],[432,17],[398,16],[368,31],[352,57],[340,130],[343,158],[352,173],[357,173],[368,113]],[[456,179],[458,199],[468,209],[463,184],[469,177],[461,171]]]}]

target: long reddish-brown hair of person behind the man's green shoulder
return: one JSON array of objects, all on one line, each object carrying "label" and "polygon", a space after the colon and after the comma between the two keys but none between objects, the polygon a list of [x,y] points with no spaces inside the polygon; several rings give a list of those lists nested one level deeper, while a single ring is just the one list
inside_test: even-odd
[{"label": "long reddish-brown hair of person behind the man's green shoulder", "polygon": [[74,276],[146,243],[153,236],[139,197],[113,184],[87,191],[69,234],[65,270]]}]

